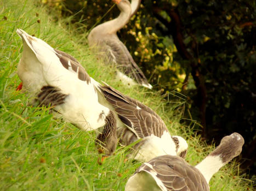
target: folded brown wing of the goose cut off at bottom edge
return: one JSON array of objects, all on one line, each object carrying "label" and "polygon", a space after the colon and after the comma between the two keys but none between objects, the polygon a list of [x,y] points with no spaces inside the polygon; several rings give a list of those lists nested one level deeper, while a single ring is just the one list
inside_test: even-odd
[{"label": "folded brown wing of the goose cut off at bottom edge", "polygon": [[[209,190],[208,184],[199,170],[177,156],[160,156],[141,165],[135,173],[149,173],[158,186],[167,190],[198,191]],[[162,188],[162,190],[166,190]]]}]

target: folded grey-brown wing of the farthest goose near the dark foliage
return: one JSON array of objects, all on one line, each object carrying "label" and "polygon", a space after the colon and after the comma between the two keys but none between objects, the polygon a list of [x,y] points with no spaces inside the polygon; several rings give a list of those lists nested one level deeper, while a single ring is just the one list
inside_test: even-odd
[{"label": "folded grey-brown wing of the farthest goose near the dark foliage", "polygon": [[[103,50],[106,52],[107,59],[109,62],[117,64],[117,67],[121,67],[124,73],[133,79],[135,79],[140,84],[145,84],[149,86],[143,71],[134,62],[133,57],[130,55],[127,47],[116,38],[104,39],[105,46]],[[151,85],[150,85],[151,87]]]}]

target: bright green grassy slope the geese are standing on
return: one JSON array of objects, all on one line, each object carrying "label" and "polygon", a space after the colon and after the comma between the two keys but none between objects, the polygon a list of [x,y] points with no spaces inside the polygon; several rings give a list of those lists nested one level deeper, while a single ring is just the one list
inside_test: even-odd
[{"label": "bright green grassy slope the geese are standing on", "polygon": [[[124,162],[127,148],[118,148],[99,165],[94,132],[81,132],[69,123],[54,120],[47,108],[29,106],[27,94],[15,91],[20,82],[16,65],[22,51],[16,28],[70,53],[95,80],[104,80],[150,105],[170,132],[187,139],[190,147],[186,160],[190,164],[195,165],[213,150],[179,124],[181,114],[167,108],[157,93],[124,87],[114,79],[113,69],[88,51],[86,35],[76,36],[72,25],[65,26],[64,20],[55,23],[45,8],[35,7],[32,2],[0,1],[0,190],[123,190],[127,178],[140,165],[131,160]],[[180,105],[184,106],[182,100]],[[214,175],[211,190],[252,190],[250,181],[237,176],[237,167],[233,162]]]}]

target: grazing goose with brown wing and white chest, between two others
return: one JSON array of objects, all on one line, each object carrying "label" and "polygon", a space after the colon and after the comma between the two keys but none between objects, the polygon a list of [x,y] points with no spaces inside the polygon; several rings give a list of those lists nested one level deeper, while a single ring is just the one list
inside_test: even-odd
[{"label": "grazing goose with brown wing and white chest, between two others", "polygon": [[[120,144],[129,145],[142,139],[134,146],[135,160],[146,162],[164,154],[185,158],[186,141],[180,136],[171,136],[166,124],[156,112],[138,100],[124,96],[106,83],[99,88],[105,97],[99,96],[99,102],[111,110],[115,109],[117,137],[120,139]],[[107,103],[104,103],[104,99]]]}]

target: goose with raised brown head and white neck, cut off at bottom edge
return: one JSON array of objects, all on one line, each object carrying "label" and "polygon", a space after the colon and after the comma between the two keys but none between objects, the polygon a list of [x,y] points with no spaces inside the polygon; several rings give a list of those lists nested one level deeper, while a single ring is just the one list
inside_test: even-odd
[{"label": "goose with raised brown head and white neck, cut off at bottom edge", "polygon": [[141,165],[127,181],[125,191],[209,191],[209,181],[218,170],[242,151],[243,137],[225,136],[220,145],[195,167],[177,156],[164,155]]}]

